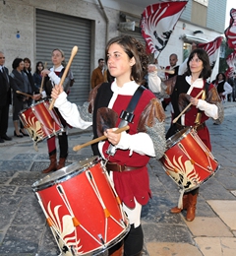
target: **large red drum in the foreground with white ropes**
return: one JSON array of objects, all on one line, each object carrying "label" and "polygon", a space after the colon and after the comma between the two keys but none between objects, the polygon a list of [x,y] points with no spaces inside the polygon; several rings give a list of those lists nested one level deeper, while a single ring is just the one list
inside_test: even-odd
[{"label": "large red drum in the foreground with white ropes", "polygon": [[65,255],[97,255],[130,229],[107,171],[96,157],[45,176],[32,184],[32,190]]}]

